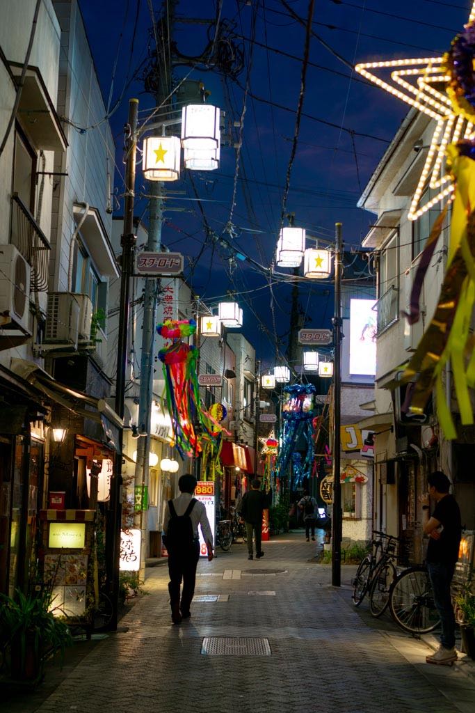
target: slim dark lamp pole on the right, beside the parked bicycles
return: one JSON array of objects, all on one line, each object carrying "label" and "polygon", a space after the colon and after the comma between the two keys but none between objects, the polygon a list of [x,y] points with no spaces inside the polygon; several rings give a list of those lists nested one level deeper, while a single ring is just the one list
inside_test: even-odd
[{"label": "slim dark lamp pole on the right, beside the parked bicycles", "polygon": [[335,369],[333,370],[333,508],[332,508],[332,584],[341,584],[341,483],[340,483],[340,407],[341,407],[341,223],[335,223],[335,316],[333,317],[333,344],[335,344]]}]

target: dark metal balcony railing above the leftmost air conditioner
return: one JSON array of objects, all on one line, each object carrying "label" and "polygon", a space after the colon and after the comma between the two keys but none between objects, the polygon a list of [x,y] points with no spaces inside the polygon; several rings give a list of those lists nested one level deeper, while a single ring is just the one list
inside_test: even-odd
[{"label": "dark metal balcony railing above the leftmost air conditioner", "polygon": [[11,203],[10,242],[31,265],[31,291],[46,292],[51,245],[18,193],[11,196]]}]

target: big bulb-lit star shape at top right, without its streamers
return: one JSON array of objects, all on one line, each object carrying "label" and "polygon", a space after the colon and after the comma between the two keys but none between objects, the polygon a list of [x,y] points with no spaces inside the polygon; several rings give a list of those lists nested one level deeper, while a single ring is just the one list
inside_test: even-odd
[{"label": "big bulb-lit star shape at top right, without its streamers", "polygon": [[[473,21],[475,21],[475,1],[472,4],[468,24]],[[449,143],[456,143],[461,138],[473,138],[474,124],[462,116],[461,110],[451,102],[447,93],[451,77],[444,67],[444,57],[367,62],[357,64],[355,70],[437,122],[407,215],[409,220],[416,220],[435,203],[454,192],[451,175],[444,172],[445,150]],[[390,77],[384,78],[388,70],[392,70]],[[420,205],[429,175],[429,187],[439,190],[434,198]]]}]

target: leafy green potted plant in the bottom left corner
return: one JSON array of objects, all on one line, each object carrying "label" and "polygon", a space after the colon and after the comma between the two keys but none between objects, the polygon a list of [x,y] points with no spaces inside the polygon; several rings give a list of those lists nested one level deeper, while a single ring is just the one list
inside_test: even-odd
[{"label": "leafy green potted plant in the bottom left corner", "polygon": [[28,595],[16,590],[15,597],[0,594],[0,642],[11,679],[39,682],[46,658],[58,651],[63,658],[72,644],[66,622],[51,605],[48,588]]}]

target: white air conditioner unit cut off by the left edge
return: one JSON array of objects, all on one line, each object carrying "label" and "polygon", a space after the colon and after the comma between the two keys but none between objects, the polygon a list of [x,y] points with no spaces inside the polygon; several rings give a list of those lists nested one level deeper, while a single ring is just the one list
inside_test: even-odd
[{"label": "white air conditioner unit cut off by the left edge", "polygon": [[5,329],[28,329],[31,267],[14,245],[0,245],[0,324]]}]

